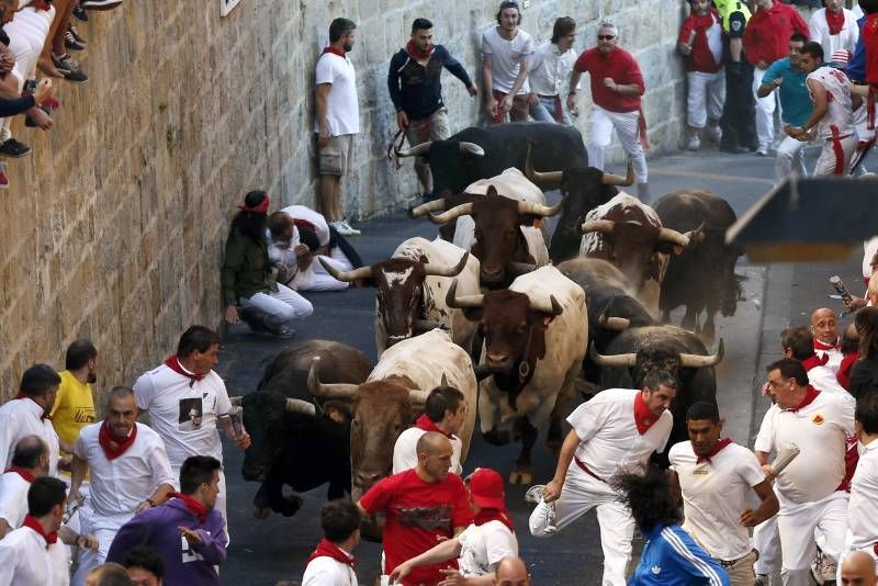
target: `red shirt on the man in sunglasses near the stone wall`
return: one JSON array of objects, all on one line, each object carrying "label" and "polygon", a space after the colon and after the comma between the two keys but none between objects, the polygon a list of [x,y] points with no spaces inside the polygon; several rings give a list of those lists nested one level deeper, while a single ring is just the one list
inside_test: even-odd
[{"label": "red shirt on the man in sunglasses near the stone wall", "polygon": [[573,68],[592,77],[592,99],[610,112],[634,112],[640,110],[640,95],[622,95],[604,84],[604,78],[611,78],[620,86],[637,83],[641,91],[646,90],[638,61],[624,49],[616,47],[607,55],[597,47],[586,49],[576,59]]}]

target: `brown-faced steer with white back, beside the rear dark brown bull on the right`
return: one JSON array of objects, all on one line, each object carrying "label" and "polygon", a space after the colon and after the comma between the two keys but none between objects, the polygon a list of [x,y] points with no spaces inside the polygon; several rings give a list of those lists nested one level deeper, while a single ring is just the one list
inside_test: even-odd
[{"label": "brown-faced steer with white back, beside the rear dark brown bull on the right", "polygon": [[688,245],[688,237],[662,227],[655,211],[628,193],[588,212],[579,230],[584,234],[579,255],[618,267],[643,306],[657,316],[667,256]]}]

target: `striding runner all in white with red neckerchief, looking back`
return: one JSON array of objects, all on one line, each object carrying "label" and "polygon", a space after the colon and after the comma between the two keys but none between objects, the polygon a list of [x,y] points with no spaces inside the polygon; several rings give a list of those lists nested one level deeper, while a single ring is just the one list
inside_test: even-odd
[{"label": "striding runner all in white with red neckerchief, looking back", "polygon": [[536,537],[548,537],[597,508],[605,586],[626,583],[634,534],[631,512],[611,483],[617,474],[642,474],[650,455],[664,450],[674,421],[667,407],[676,393],[671,374],[652,371],[642,391],[609,388],[579,405],[567,417],[573,429],[561,447],[554,478],[528,491],[529,499],[539,500],[530,515]]}]

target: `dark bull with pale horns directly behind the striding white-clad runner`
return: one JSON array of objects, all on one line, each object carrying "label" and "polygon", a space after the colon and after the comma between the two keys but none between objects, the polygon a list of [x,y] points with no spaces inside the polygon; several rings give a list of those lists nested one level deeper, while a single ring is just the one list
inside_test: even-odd
[{"label": "dark bull with pale horns directly behind the striding white-clad runner", "polygon": [[[592,360],[601,368],[604,388],[640,388],[646,373],[656,370],[677,379],[677,395],[671,404],[674,428],[668,446],[688,439],[686,412],[691,404],[699,401],[717,404],[713,367],[720,363],[722,354],[722,340],[717,352],[708,354],[695,334],[674,326],[631,328],[610,342],[606,354],[590,350]],[[658,461],[667,463],[667,451]]]}]

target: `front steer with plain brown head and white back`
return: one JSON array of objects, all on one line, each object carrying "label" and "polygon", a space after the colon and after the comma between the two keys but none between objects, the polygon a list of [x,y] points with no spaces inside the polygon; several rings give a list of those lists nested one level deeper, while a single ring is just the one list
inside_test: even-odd
[{"label": "front steer with plain brown head and white back", "polygon": [[[391,474],[396,438],[423,413],[427,395],[440,384],[458,388],[465,397],[466,416],[458,437],[462,443],[461,463],[466,459],[475,426],[475,373],[470,356],[447,333],[434,329],[387,348],[368,380],[359,385],[326,384],[319,377],[323,371],[319,360],[314,361],[308,374],[311,393],[323,399],[352,402],[350,465],[354,502]],[[365,539],[381,540],[378,520],[364,520],[362,529]]]}]

